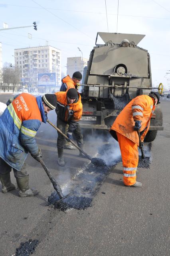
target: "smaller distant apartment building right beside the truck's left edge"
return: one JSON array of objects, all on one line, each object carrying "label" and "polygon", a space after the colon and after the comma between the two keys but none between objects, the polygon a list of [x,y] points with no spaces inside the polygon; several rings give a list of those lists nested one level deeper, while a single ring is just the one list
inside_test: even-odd
[{"label": "smaller distant apartment building right beside the truck's left edge", "polygon": [[88,59],[81,57],[67,58],[67,74],[72,77],[75,71],[79,71],[83,75],[84,67],[87,66]]}]

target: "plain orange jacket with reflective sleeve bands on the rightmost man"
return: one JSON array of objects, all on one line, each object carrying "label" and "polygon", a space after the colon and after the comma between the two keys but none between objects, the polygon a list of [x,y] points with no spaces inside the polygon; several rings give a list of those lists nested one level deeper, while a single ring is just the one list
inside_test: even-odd
[{"label": "plain orange jacket with reflective sleeve bands on the rightmost man", "polygon": [[143,141],[148,132],[150,118],[154,113],[154,109],[154,99],[148,95],[137,96],[117,116],[110,129],[110,133],[114,135],[113,131],[117,131],[139,145],[138,134],[134,131],[134,123],[137,120],[142,121],[140,133],[142,133],[141,140]]}]

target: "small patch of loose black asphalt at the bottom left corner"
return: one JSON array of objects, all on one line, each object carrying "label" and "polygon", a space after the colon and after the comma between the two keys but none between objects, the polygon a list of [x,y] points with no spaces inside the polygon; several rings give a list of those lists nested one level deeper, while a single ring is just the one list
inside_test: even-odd
[{"label": "small patch of loose black asphalt at the bottom left corner", "polygon": [[16,248],[15,256],[30,256],[33,254],[36,246],[39,244],[38,240],[29,240],[25,243],[21,243],[19,248]]}]

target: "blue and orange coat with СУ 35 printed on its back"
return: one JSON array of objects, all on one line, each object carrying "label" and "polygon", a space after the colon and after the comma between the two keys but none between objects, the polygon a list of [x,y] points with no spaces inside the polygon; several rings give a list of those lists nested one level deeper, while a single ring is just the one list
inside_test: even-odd
[{"label": "blue and orange coat with \u0421\u0423 35 printed on its back", "polygon": [[34,139],[41,122],[46,123],[41,96],[21,93],[0,117],[0,157],[20,171],[28,152],[38,153]]}]

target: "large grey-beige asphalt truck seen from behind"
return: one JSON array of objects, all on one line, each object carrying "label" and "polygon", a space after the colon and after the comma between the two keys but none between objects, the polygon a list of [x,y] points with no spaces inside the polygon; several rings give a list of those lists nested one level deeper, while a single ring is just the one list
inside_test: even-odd
[{"label": "large grey-beige asphalt truck seen from behind", "polygon": [[[97,44],[98,36],[104,44]],[[152,91],[150,54],[138,46],[144,36],[97,33],[95,47],[83,73],[80,121],[83,129],[109,130],[131,99]],[[162,87],[158,87],[158,91],[161,93]],[[162,110],[156,105],[144,141],[153,141],[158,130],[163,130]]]}]

